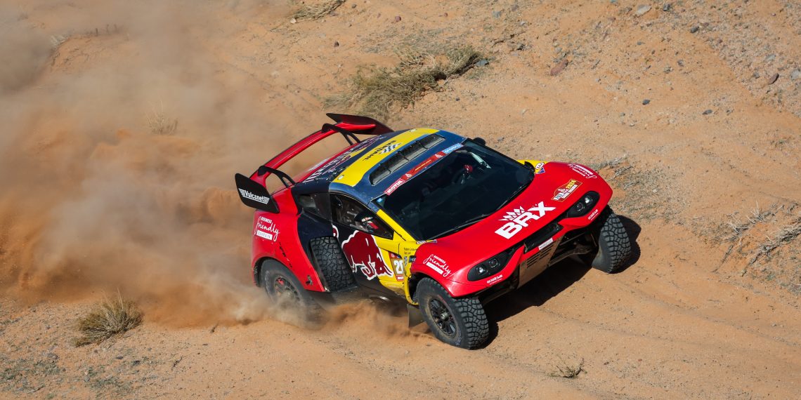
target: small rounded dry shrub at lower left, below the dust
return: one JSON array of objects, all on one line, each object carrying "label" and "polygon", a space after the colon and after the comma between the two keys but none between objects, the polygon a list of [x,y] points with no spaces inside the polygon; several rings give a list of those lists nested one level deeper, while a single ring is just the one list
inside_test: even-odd
[{"label": "small rounded dry shrub at lower left, below the dust", "polygon": [[123,334],[142,323],[142,311],[135,302],[123,300],[103,300],[87,316],[78,321],[78,330],[83,334],[75,338],[75,346],[103,342],[115,334]]}]

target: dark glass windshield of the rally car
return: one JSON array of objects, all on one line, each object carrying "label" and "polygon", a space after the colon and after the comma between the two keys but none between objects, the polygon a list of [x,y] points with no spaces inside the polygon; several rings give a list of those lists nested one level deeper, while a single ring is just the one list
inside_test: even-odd
[{"label": "dark glass windshield of the rally car", "polygon": [[521,163],[468,140],[376,203],[417,240],[432,240],[493,214],[533,177]]}]

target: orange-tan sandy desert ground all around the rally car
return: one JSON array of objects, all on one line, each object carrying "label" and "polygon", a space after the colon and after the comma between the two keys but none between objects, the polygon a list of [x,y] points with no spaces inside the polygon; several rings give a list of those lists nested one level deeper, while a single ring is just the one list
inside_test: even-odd
[{"label": "orange-tan sandy desert ground all around the rally car", "polygon": [[[0,2],[0,397],[798,397],[798,2],[297,6]],[[489,64],[388,125],[598,168],[634,262],[553,266],[489,306],[481,350],[368,304],[280,322],[231,175],[341,111],[360,67],[453,43]],[[71,346],[115,290],[143,325]]]}]

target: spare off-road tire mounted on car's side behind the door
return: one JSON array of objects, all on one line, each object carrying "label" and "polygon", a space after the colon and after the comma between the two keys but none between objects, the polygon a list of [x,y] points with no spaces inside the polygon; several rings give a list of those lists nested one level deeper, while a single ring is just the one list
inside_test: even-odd
[{"label": "spare off-road tire mounted on car's side behind the door", "polygon": [[313,238],[309,242],[312,249],[314,262],[320,268],[320,273],[325,278],[328,290],[336,292],[339,290],[352,289],[356,286],[356,278],[353,270],[348,265],[348,260],[342,254],[340,242],[332,236],[323,238]]}]

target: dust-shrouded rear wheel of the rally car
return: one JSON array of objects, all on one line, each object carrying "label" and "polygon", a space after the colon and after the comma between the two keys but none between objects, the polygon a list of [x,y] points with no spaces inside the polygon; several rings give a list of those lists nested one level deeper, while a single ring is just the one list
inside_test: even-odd
[{"label": "dust-shrouded rear wheel of the rally car", "polygon": [[320,306],[284,264],[266,260],[261,264],[260,274],[264,291],[274,305],[294,311],[304,318],[315,318],[319,314]]}]

